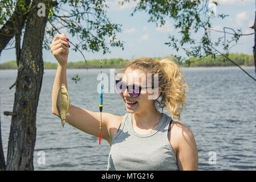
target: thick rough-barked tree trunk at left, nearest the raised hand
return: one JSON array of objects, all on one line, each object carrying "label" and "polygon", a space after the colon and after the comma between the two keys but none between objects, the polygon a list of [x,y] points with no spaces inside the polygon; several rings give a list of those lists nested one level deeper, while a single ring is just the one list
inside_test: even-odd
[{"label": "thick rough-barked tree trunk at left, nearest the raised hand", "polygon": [[[42,1],[32,1],[36,6]],[[46,2],[46,1],[44,1]],[[47,5],[46,5],[47,7]],[[17,60],[18,75],[15,84],[6,170],[33,170],[33,154],[36,139],[36,110],[43,79],[42,43],[48,19],[38,16],[34,8],[27,16],[20,59]]]}]

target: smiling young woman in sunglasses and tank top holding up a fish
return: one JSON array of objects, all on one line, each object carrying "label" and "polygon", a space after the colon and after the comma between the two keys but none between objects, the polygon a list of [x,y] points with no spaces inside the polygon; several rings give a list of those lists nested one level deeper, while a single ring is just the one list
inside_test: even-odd
[{"label": "smiling young woman in sunglasses and tank top holding up a fish", "polygon": [[[56,35],[50,44],[51,52],[58,61],[52,88],[52,113],[58,117],[56,100],[59,88],[62,84],[67,87],[68,47],[65,34]],[[147,79],[138,78],[144,75],[147,78],[149,73],[152,78],[157,73],[158,85],[154,85],[152,80],[153,87],[146,88],[145,85],[149,84]],[[147,57],[129,61],[116,86],[128,113],[124,116],[102,113],[101,138],[111,146],[107,169],[197,170],[198,154],[193,133],[178,122],[185,106],[186,83],[177,64],[168,59]],[[157,110],[160,108],[166,108],[171,117],[160,113]],[[70,125],[98,137],[98,112],[71,105],[68,113]]]}]

